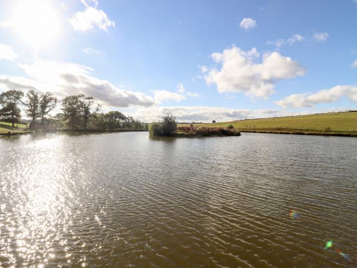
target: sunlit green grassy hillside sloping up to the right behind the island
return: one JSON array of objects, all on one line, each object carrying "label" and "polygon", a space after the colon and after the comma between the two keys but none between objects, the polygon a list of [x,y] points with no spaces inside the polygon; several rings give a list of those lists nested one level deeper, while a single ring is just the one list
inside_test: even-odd
[{"label": "sunlit green grassy hillside sloping up to the right behind the island", "polygon": [[337,132],[357,134],[357,112],[245,119],[221,123],[195,124],[195,126],[226,127],[230,124],[242,132],[280,133],[282,131],[299,131],[301,133],[296,134],[318,134],[319,132],[327,134]]}]

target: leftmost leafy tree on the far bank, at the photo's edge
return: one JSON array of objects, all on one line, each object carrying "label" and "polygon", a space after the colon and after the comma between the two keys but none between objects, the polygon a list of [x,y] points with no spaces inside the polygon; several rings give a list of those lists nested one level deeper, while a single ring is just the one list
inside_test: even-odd
[{"label": "leftmost leafy tree on the far bank, at the photo's edge", "polygon": [[21,119],[21,111],[18,108],[23,92],[20,90],[8,90],[0,94],[0,118],[5,121],[10,121],[12,127],[15,127],[15,123],[19,123]]}]

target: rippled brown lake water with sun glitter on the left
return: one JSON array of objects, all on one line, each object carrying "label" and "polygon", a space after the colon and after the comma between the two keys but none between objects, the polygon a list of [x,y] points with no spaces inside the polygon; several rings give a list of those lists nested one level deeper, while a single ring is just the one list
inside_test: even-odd
[{"label": "rippled brown lake water with sun glitter on the left", "polygon": [[0,152],[5,267],[357,263],[356,138],[49,133]]}]

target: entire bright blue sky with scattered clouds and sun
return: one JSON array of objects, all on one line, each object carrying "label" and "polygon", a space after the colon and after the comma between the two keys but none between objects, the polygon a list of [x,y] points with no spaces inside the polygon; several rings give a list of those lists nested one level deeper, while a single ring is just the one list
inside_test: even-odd
[{"label": "entire bright blue sky with scattered clouds and sun", "polygon": [[180,122],[357,109],[357,0],[0,0],[0,92]]}]

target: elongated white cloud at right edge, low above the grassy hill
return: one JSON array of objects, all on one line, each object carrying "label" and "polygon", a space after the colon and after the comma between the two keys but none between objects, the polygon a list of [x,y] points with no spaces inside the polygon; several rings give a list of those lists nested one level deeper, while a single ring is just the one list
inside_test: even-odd
[{"label": "elongated white cloud at right edge, low above the grassy hill", "polygon": [[357,86],[335,86],[313,94],[292,94],[276,103],[283,108],[314,107],[319,103],[336,102],[342,96],[346,96],[352,102],[357,102]]}]

